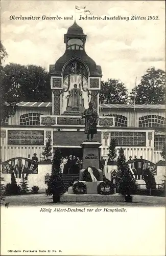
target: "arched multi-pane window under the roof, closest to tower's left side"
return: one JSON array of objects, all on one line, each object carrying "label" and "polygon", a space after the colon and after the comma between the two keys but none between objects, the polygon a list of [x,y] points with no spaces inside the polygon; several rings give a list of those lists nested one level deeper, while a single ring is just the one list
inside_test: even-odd
[{"label": "arched multi-pane window under the roof, closest to tower's left side", "polygon": [[40,114],[27,113],[19,117],[19,125],[37,125],[40,124]]}]

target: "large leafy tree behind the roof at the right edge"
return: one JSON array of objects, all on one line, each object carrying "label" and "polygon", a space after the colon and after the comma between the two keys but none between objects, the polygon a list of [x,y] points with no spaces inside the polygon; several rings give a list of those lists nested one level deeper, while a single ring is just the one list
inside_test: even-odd
[{"label": "large leafy tree behind the roof at the right edge", "polygon": [[[130,93],[130,103],[134,103],[135,88]],[[136,87],[135,104],[165,104],[165,72],[149,68]]]}]

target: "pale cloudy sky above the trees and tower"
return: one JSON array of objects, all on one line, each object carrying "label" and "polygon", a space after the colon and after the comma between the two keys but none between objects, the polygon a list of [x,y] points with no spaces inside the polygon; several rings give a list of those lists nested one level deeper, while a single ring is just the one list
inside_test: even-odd
[{"label": "pale cloudy sky above the trees and tower", "polygon": [[[129,17],[129,20],[79,20],[75,5],[86,6],[94,16]],[[8,58],[21,65],[38,65],[49,71],[65,52],[64,34],[74,20],[87,35],[85,51],[102,67],[102,80],[120,79],[129,91],[147,69],[165,70],[164,1],[1,1],[1,41]],[[39,16],[39,20],[10,20],[10,16]],[[61,20],[42,20],[42,15]],[[131,20],[131,16],[146,20]],[[89,15],[88,15],[89,16]],[[148,16],[158,19],[148,20]]]}]

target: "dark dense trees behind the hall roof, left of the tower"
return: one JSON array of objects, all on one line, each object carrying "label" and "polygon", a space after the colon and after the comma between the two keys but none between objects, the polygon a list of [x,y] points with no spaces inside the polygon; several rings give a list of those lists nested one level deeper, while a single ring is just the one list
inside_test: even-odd
[{"label": "dark dense trees behind the hall roof, left of the tower", "polygon": [[1,122],[15,114],[20,101],[51,101],[49,73],[39,66],[15,63],[1,70]]}]

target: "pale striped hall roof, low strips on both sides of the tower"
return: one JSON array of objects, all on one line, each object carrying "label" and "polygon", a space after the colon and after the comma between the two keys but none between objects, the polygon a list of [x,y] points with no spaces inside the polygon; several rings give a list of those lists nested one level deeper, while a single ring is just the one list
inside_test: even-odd
[{"label": "pale striped hall roof, low strips on both sides of the tower", "polygon": [[[52,102],[30,102],[21,101],[17,103],[20,107],[33,107],[33,108],[52,108]],[[134,109],[134,105],[131,104],[100,104],[102,109]],[[135,105],[135,109],[161,109],[165,110],[165,105]]]}]

